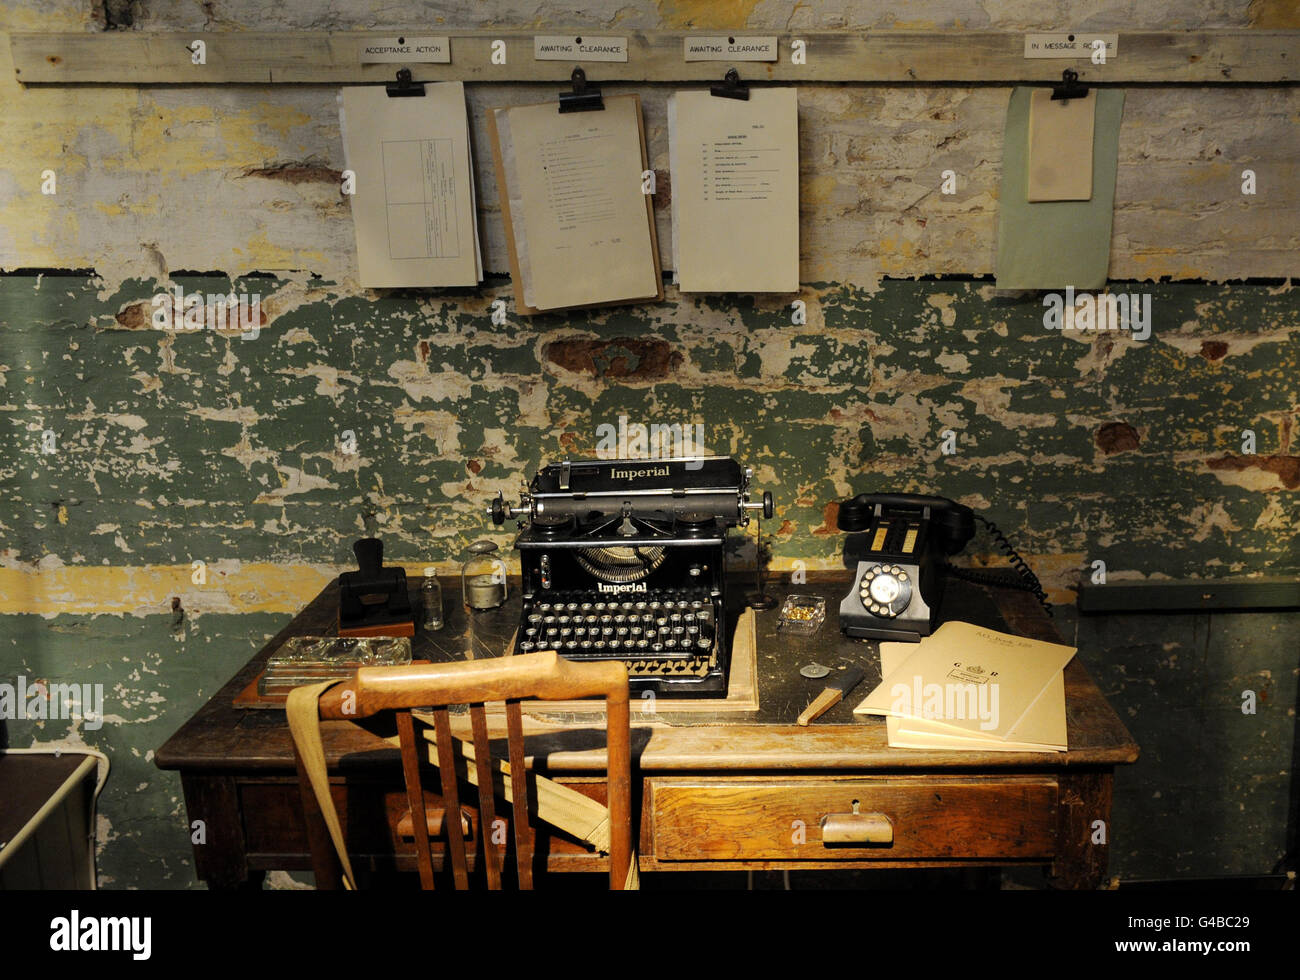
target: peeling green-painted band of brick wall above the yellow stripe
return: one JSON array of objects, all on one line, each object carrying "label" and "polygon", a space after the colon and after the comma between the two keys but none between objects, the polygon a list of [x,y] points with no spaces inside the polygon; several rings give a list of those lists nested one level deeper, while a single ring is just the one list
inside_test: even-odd
[{"label": "peeling green-painted band of brick wall above the yellow stripe", "polygon": [[701,424],[710,451],[754,467],[777,500],[777,567],[833,564],[827,506],[900,489],[987,511],[1057,591],[1095,559],[1140,576],[1300,568],[1290,286],[1117,286],[1152,294],[1145,342],[1046,330],[1037,296],[979,282],[806,289],[797,326],[745,299],[494,326],[498,290],[234,287],[269,311],[256,338],[151,329],[151,283],[0,279],[10,569],[346,564],[367,520],[398,560],[451,560],[493,532],[497,490],[594,454],[620,416]]}]

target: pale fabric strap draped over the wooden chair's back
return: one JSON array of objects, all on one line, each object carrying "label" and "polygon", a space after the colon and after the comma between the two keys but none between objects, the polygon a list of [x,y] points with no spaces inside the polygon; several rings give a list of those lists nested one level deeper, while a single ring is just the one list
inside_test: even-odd
[{"label": "pale fabric strap draped over the wooden chair's back", "polygon": [[[329,776],[325,769],[325,747],[321,742],[320,725],[320,697],[335,684],[341,684],[341,681],[321,681],[320,684],[294,688],[289,691],[289,701],[285,710],[289,715],[289,730],[294,734],[294,742],[298,745],[298,754],[302,756],[303,768],[307,771],[312,793],[316,797],[317,806],[320,806],[321,815],[325,818],[325,825],[329,828],[330,840],[334,842],[334,850],[343,868],[343,886],[351,890],[356,888],[356,879],[352,876],[352,866],[347,858],[347,845],[343,841],[343,831],[338,823],[334,798],[329,793]],[[422,723],[433,724],[430,715],[419,711],[412,714]],[[396,736],[385,741],[398,745]],[[460,751],[465,759],[472,763],[474,760],[473,745],[462,738],[455,738],[455,741],[460,743]],[[430,764],[437,767],[438,755],[432,746],[428,758]],[[511,781],[508,779],[510,763],[498,760],[497,766],[507,776],[502,781],[504,798],[508,802],[514,802],[514,793],[511,792]],[[465,767],[465,775],[472,785],[478,785],[478,773],[473,766]],[[534,773],[532,780],[537,792],[538,820],[586,841],[602,853],[607,854],[610,851],[610,811],[607,807],[545,776]],[[624,890],[641,888],[636,850],[632,851],[632,860],[623,888]]]}]

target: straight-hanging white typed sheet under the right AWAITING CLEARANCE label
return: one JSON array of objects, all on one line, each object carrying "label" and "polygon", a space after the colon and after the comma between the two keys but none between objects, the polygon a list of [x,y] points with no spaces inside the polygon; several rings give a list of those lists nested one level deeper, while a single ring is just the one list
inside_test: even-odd
[{"label": "straight-hanging white typed sheet under the right AWAITING CLEARANCE label", "polygon": [[794,88],[749,100],[668,99],[672,255],[682,292],[797,292],[800,125]]}]

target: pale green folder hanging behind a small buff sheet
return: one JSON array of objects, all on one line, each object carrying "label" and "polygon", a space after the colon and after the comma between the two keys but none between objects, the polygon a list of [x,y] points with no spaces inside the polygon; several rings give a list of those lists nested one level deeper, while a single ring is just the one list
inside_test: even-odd
[{"label": "pale green folder hanging behind a small buff sheet", "polygon": [[1124,94],[1097,90],[1092,136],[1092,200],[1028,201],[1030,87],[1011,91],[997,218],[997,289],[1096,290],[1110,265],[1119,120]]}]

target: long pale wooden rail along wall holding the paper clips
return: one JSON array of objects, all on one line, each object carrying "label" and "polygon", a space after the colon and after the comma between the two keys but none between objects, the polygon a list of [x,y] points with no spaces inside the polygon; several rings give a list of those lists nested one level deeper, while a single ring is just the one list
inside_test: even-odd
[{"label": "long pale wooden rail along wall holding the paper clips", "polygon": [[[1105,65],[1080,58],[1027,58],[1026,32],[1011,31],[760,31],[776,36],[777,61],[686,61],[688,36],[724,31],[588,30],[627,39],[627,61],[536,61],[533,32],[448,31],[419,27],[415,36],[450,38],[450,64],[412,64],[416,81],[568,81],[581,64],[595,83],[719,81],[728,66],[745,81],[798,82],[1049,82],[1074,68],[1084,82],[1148,84],[1291,83],[1300,61],[1300,31],[1205,30],[1119,34]],[[546,29],[547,34],[562,34]],[[352,84],[393,79],[399,64],[360,62],[360,48],[400,31],[238,31],[12,34],[14,70],[25,84]],[[1080,32],[1082,36],[1092,36]],[[205,64],[192,64],[202,40]],[[794,64],[796,40],[805,62]],[[504,42],[494,64],[493,42]],[[497,60],[500,60],[498,45]]]}]

